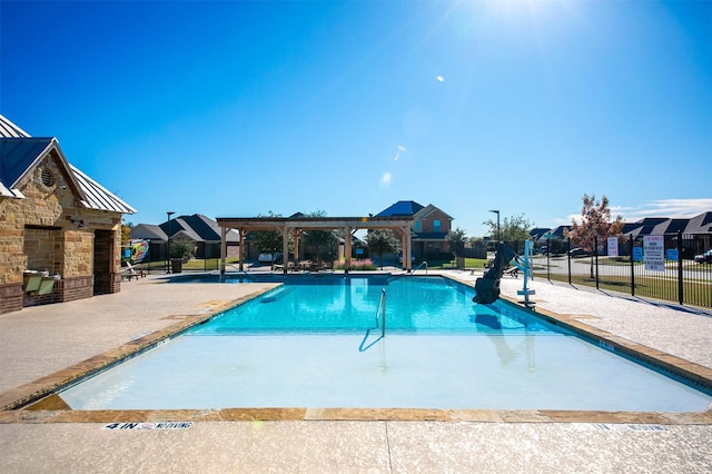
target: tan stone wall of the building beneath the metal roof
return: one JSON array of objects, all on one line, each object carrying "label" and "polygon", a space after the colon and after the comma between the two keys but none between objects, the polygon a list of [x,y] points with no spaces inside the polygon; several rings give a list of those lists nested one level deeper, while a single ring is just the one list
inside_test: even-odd
[{"label": "tan stone wall of the building beneath the metal roof", "polygon": [[[18,186],[24,199],[0,197],[0,314],[23,305],[68,302],[95,294],[95,273],[120,290],[121,215],[87,209],[52,150]],[[95,268],[95,233],[103,231],[103,265]],[[60,275],[50,295],[22,289],[26,269]],[[118,283],[117,283],[118,280]]]}]

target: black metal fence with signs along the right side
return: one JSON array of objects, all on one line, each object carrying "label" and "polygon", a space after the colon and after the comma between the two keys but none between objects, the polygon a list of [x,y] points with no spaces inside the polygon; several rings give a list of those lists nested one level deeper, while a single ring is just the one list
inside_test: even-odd
[{"label": "black metal fence with signs along the right side", "polygon": [[553,253],[550,244],[550,251],[535,257],[535,276],[712,307],[712,263],[694,260],[712,248],[710,234],[602,238],[592,249],[572,249],[571,241],[564,243],[565,251]]}]

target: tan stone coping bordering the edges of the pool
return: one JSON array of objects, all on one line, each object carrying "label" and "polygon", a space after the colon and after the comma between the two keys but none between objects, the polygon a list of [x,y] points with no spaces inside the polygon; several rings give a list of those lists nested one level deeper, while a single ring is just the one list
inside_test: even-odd
[{"label": "tan stone coping bordering the edges of the pool", "polygon": [[[439,275],[468,287],[471,282],[452,275]],[[87,361],[41,377],[0,394],[0,424],[24,423],[148,423],[148,422],[236,422],[236,421],[433,421],[479,423],[600,423],[600,424],[659,424],[712,425],[712,407],[704,412],[603,412],[557,409],[431,409],[431,408],[339,408],[339,407],[233,407],[208,409],[130,409],[130,411],[72,411],[58,389],[113,364],[162,344],[189,328],[205,323],[215,315],[239,306],[274,289],[280,284],[250,295],[214,306],[201,315],[175,315],[178,323]],[[663,368],[694,384],[712,389],[712,368],[691,363],[664,352],[634,343],[609,332],[589,326],[577,318],[583,315],[560,315],[516,298],[502,295],[508,304],[533,312],[550,324],[557,325],[589,339],[601,347],[637,358]]]}]

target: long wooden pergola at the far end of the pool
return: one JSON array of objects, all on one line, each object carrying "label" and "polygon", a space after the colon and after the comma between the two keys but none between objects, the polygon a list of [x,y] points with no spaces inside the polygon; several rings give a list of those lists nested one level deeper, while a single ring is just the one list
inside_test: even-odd
[{"label": "long wooden pergola at the far end of the pool", "polygon": [[[294,237],[294,258],[299,258],[299,234],[308,229],[340,229],[345,236],[345,270],[352,266],[352,236],[359,229],[392,229],[400,234],[404,269],[411,270],[412,263],[407,256],[412,253],[411,227],[413,217],[218,217],[221,229],[220,273],[225,274],[227,258],[227,233],[231,229],[239,233],[240,270],[244,270],[245,236],[253,230],[276,230],[284,237],[283,255],[289,255],[289,239]],[[286,257],[285,257],[286,258]],[[284,266],[287,273],[287,265]]]}]

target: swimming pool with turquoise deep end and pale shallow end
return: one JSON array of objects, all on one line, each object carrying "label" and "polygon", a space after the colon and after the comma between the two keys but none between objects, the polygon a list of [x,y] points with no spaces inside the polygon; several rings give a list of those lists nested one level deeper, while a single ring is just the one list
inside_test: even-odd
[{"label": "swimming pool with turquoise deep end and pale shallow end", "polygon": [[[368,332],[386,290],[386,336]],[[446,278],[286,284],[66,391],[73,409],[700,412],[709,394]]]}]

